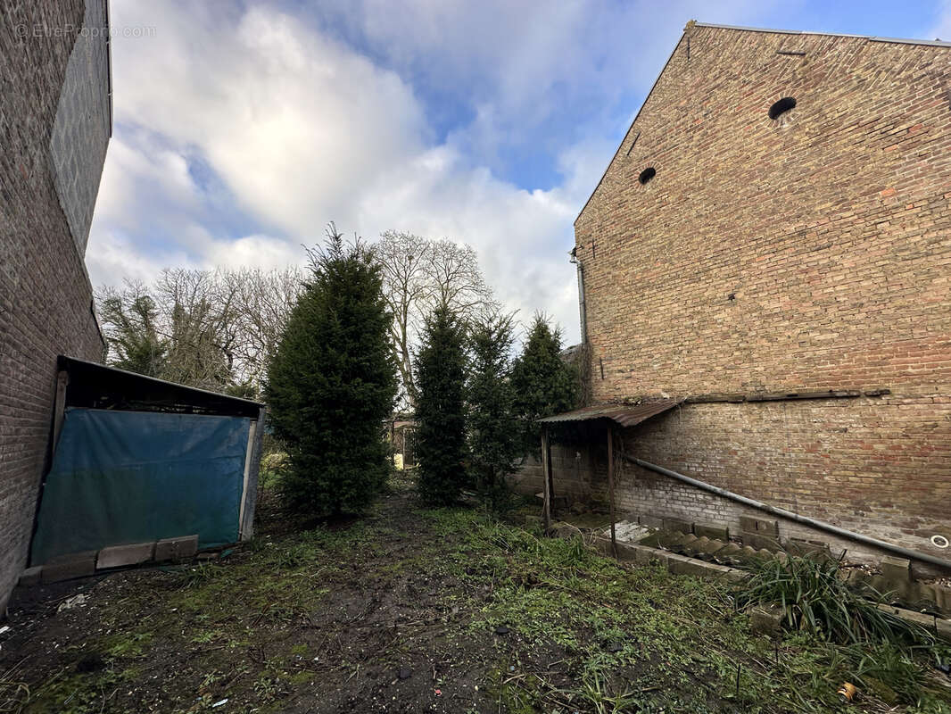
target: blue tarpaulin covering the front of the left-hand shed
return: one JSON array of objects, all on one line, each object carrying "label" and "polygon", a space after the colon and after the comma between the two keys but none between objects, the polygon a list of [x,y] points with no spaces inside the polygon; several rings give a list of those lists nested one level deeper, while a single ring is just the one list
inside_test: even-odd
[{"label": "blue tarpaulin covering the front of the left-hand shed", "polygon": [[251,420],[68,408],[31,562],[197,533],[235,543]]}]

